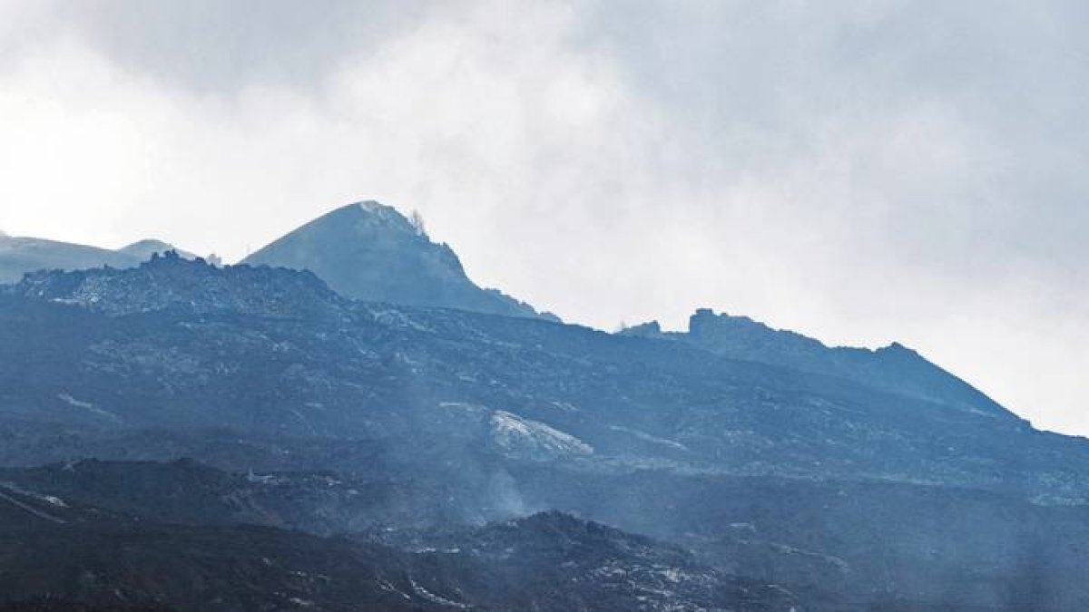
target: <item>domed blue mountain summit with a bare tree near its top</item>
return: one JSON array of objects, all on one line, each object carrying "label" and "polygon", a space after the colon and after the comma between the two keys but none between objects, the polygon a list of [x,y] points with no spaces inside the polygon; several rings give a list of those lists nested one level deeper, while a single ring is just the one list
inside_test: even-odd
[{"label": "domed blue mountain summit with a bare tree near its top", "polygon": [[499,291],[477,286],[448,245],[431,242],[418,223],[377,201],[338,208],[242,264],[309,270],[337,292],[357,299],[554,319]]}]

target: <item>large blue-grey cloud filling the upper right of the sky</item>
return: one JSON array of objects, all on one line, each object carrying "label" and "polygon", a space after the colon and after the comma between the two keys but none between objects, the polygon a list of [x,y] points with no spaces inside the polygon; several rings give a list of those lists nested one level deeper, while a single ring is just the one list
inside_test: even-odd
[{"label": "large blue-grey cloud filling the upper right of the sky", "polygon": [[[811,179],[849,181],[853,193],[836,203],[799,193],[784,212],[823,206],[845,245],[901,265],[993,281],[1025,258],[1086,279],[1087,12],[1080,2],[605,2],[580,40],[608,47],[638,91],[672,109],[693,147],[682,175],[782,181],[844,155],[833,169],[843,176]],[[890,147],[903,137],[932,148],[897,157],[913,155]]]}]

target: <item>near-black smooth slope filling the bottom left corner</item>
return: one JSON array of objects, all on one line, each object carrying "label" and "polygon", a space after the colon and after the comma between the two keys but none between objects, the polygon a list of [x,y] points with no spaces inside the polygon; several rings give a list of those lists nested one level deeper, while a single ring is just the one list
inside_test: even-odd
[{"label": "near-black smooth slope filling the bottom left corner", "polygon": [[384,547],[170,524],[0,485],[0,607],[15,610],[445,610],[415,592],[409,565]]}]

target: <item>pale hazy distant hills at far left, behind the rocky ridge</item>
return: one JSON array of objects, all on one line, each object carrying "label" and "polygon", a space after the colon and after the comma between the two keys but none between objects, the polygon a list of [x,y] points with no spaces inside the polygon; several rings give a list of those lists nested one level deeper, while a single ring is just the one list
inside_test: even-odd
[{"label": "pale hazy distant hills at far left, behind the rocky ridge", "polygon": [[[0,283],[19,281],[38,270],[82,270],[86,268],[129,268],[139,265],[152,253],[174,247],[156,240],[140,241],[117,250],[44,238],[9,236],[0,232]],[[183,256],[189,256],[183,253]]]}]

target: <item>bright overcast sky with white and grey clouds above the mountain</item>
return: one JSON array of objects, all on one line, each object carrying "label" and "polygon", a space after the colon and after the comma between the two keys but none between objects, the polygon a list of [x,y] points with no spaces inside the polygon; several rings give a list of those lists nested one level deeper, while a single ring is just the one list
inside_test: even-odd
[{"label": "bright overcast sky with white and grey clouds above the mountain", "polygon": [[0,230],[418,209],[564,319],[898,340],[1089,434],[1089,3],[0,0]]}]

